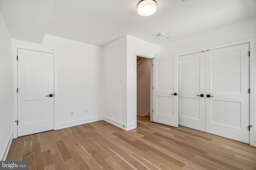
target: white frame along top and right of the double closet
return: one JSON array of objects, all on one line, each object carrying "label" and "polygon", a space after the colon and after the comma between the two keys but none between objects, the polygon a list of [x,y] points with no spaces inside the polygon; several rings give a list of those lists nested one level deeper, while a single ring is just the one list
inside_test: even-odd
[{"label": "white frame along top and right of the double closet", "polygon": [[230,47],[234,45],[240,45],[240,44],[245,44],[249,43],[249,49],[250,49],[250,106],[249,106],[249,117],[250,117],[250,125],[252,125],[252,128],[250,128],[250,145],[256,147],[256,108],[254,106],[256,102],[256,54],[255,54],[255,38],[251,39],[244,39],[241,41],[234,41],[230,43],[225,43],[222,45],[216,45],[216,46],[211,46],[211,47],[205,47],[202,49],[194,50],[194,51],[189,51],[189,52],[184,52],[178,54],[178,57],[182,55],[188,55],[188,54],[193,54],[193,53],[198,53],[198,52],[203,52],[207,50],[214,50],[214,49],[220,49],[220,48],[225,48],[225,47]]}]

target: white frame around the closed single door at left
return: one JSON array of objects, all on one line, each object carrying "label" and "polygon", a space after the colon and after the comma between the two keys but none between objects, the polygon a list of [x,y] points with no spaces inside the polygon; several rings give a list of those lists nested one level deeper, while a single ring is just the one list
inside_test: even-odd
[{"label": "white frame around the closed single door at left", "polygon": [[[52,53],[54,56],[54,94],[57,93],[57,70],[56,70],[56,52],[54,50],[48,50],[40,47],[31,47],[30,45],[13,45],[12,46],[12,127],[13,127],[13,139],[18,137],[18,126],[16,125],[15,121],[18,119],[18,49],[24,50],[31,50],[31,51],[38,51],[44,53]],[[55,102],[55,100],[54,100]],[[54,107],[54,130],[56,129],[57,119],[55,114],[55,107]]]}]

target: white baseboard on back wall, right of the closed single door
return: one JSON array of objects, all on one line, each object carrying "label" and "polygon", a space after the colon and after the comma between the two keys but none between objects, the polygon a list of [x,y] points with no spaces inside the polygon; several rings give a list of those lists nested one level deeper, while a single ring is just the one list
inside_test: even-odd
[{"label": "white baseboard on back wall, right of the closed single door", "polygon": [[66,122],[66,123],[60,123],[57,125],[57,128],[54,130],[77,126],[77,125],[82,125],[82,124],[86,124],[86,123],[92,123],[94,121],[100,121],[100,120],[103,120],[102,116],[92,117],[92,118],[82,119],[82,120],[77,120],[77,121],[70,121],[70,122]]}]

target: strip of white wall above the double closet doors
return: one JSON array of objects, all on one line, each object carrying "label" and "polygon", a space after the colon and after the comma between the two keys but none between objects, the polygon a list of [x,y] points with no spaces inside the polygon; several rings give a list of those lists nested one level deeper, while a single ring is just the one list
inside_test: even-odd
[{"label": "strip of white wall above the double closet doors", "polygon": [[253,37],[256,37],[256,17],[160,45],[160,56],[166,57]]}]

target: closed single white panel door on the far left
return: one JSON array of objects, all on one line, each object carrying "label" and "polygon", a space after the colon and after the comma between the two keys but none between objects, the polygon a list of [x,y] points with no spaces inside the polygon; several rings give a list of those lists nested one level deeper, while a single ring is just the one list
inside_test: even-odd
[{"label": "closed single white panel door on the far left", "polygon": [[54,55],[18,49],[18,137],[54,129]]}]

